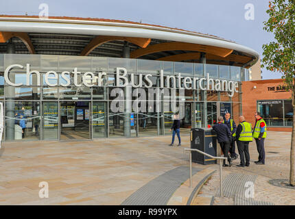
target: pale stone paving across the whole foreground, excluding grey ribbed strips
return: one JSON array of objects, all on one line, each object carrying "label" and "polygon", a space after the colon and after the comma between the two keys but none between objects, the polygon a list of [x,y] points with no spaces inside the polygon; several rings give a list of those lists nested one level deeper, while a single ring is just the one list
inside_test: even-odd
[{"label": "pale stone paving across the whole foreground, excluding grey ribbed strips", "polygon": [[[265,166],[251,163],[242,170],[224,168],[223,177],[231,173],[257,175],[255,201],[295,205],[295,190],[268,183],[269,179],[288,178],[291,135],[270,131],[268,136]],[[188,156],[183,155],[183,149],[190,146],[189,136],[182,136],[180,147],[167,146],[170,140],[164,136],[4,143],[0,150],[0,205],[121,205],[149,182],[189,165]],[[257,159],[255,144],[250,147],[250,156],[253,161]],[[218,167],[193,164],[198,170],[217,170],[202,188],[200,200],[214,196],[214,205],[233,205],[233,198],[216,196]],[[42,181],[49,184],[49,198],[38,196]],[[202,201],[197,203],[202,205]]]}]

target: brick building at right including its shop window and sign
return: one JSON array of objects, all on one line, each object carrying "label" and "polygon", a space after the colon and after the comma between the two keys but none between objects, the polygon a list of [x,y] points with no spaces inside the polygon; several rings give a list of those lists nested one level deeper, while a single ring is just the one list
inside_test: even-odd
[{"label": "brick building at right including its shop window and sign", "polygon": [[258,111],[266,120],[268,130],[292,131],[291,92],[286,91],[283,79],[244,81],[241,86],[243,115],[255,124]]}]

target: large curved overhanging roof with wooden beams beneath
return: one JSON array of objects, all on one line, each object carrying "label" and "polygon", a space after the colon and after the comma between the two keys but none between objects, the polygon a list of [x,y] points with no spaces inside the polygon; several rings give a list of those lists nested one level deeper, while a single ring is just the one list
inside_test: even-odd
[{"label": "large curved overhanging roof with wooden beams beneath", "polygon": [[200,62],[250,67],[259,54],[230,40],[194,31],[99,18],[0,15],[0,53],[6,44],[16,44],[16,53],[93,55],[121,57],[130,47],[130,57],[148,60]]}]

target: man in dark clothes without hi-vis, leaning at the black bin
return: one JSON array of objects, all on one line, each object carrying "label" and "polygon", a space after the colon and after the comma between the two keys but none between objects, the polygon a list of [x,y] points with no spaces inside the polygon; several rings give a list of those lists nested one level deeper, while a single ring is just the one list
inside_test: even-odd
[{"label": "man in dark clothes without hi-vis, leaning at the black bin", "polygon": [[223,117],[218,117],[218,123],[213,125],[213,130],[217,133],[217,142],[220,144],[224,157],[227,157],[228,164],[223,160],[223,166],[231,166],[231,157],[228,155],[231,146],[231,130],[223,123]]}]

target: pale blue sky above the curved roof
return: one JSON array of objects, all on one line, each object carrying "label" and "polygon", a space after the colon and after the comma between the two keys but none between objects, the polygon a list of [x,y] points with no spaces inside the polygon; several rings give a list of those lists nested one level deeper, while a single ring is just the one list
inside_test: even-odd
[{"label": "pale blue sky above the curved roof", "polygon": [[[10,0],[1,1],[0,14],[38,15],[40,3],[47,3],[49,16],[110,18],[177,27],[233,40],[261,56],[262,45],[273,40],[273,35],[263,30],[268,0]],[[253,21],[244,17],[247,3],[255,7]],[[262,69],[262,76],[281,78],[280,73],[266,69]]]}]

